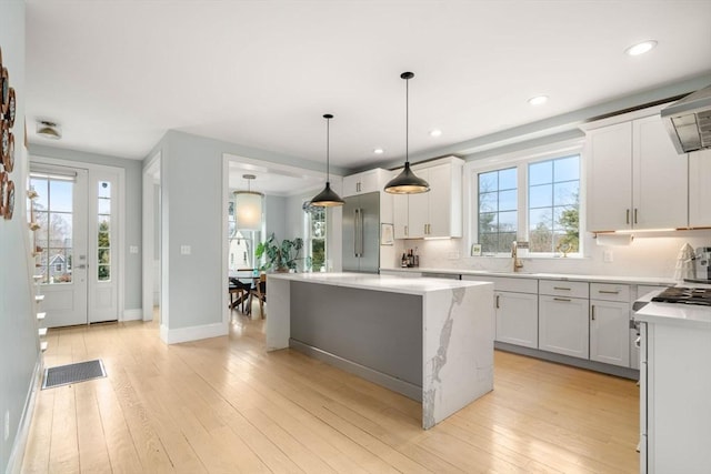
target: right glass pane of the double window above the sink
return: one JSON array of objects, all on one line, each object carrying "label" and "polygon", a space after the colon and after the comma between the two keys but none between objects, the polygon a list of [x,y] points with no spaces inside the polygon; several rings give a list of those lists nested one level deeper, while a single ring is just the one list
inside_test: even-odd
[{"label": "right glass pane of the double window above the sink", "polygon": [[580,155],[529,164],[530,252],[580,250]]}]

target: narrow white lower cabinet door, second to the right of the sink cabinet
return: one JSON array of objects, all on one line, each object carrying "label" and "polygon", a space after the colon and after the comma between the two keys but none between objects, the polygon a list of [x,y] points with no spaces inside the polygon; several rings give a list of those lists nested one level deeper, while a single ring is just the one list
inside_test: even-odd
[{"label": "narrow white lower cabinet door, second to the right of the sink cabinet", "polygon": [[630,303],[590,300],[590,360],[630,366]]}]

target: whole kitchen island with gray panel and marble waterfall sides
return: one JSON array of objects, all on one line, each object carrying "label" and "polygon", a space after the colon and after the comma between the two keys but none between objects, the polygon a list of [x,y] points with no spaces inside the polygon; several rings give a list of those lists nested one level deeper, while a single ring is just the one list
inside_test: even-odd
[{"label": "whole kitchen island with gray panel and marble waterfall sides", "polygon": [[292,347],[422,403],[430,428],[493,389],[493,285],[269,274],[267,350]]}]

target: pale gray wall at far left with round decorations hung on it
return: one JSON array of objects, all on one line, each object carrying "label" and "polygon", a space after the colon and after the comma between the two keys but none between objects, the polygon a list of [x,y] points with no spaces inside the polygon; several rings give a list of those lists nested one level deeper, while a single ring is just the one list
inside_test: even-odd
[{"label": "pale gray wall at far left with round decorations hung on it", "polygon": [[[26,402],[34,385],[41,361],[33,302],[30,243],[27,224],[27,153],[24,142],[24,1],[0,1],[0,47],[10,85],[17,94],[14,170],[14,216],[0,219],[0,433],[9,415],[10,435],[0,437],[0,472],[6,472],[18,442]],[[16,446],[18,448],[19,446]],[[16,453],[21,455],[21,451]],[[22,460],[20,458],[19,462]]]}]

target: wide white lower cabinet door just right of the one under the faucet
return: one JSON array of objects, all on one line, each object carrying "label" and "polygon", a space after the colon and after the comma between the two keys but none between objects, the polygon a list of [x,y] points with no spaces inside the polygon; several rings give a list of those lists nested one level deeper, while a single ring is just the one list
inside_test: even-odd
[{"label": "wide white lower cabinet door just right of the one under the faucet", "polygon": [[588,359],[588,299],[539,296],[538,349]]}]

